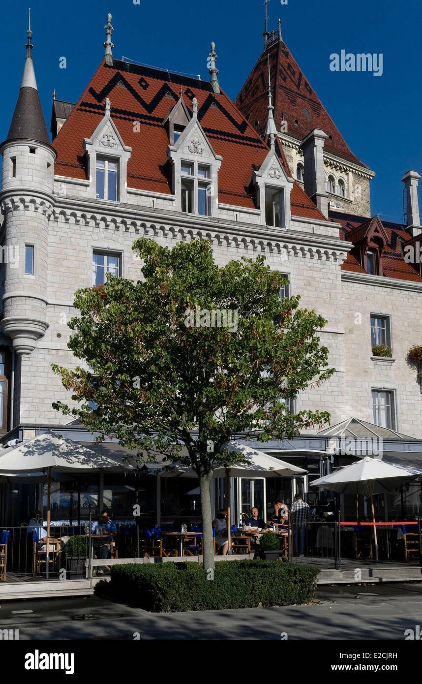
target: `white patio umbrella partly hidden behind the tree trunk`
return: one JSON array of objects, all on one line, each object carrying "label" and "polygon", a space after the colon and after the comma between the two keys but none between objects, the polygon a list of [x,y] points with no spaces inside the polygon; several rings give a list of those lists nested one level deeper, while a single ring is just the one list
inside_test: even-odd
[{"label": "white patio umbrella partly hidden behind the tree trunk", "polygon": [[[298,477],[306,475],[307,471],[279,458],[274,458],[274,456],[268,456],[267,453],[253,449],[243,442],[231,441],[226,443],[224,448],[239,454],[239,461],[243,461],[228,468],[221,466],[213,471],[215,478],[226,477],[228,549],[230,549],[230,477]],[[164,472],[163,477],[166,476],[198,477],[190,466],[179,463],[174,464],[172,468]]]}]

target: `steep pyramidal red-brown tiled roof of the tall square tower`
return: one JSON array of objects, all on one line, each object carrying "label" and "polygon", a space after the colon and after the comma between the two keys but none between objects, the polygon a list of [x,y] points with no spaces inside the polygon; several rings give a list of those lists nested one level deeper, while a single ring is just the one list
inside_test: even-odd
[{"label": "steep pyramidal red-brown tiled roof of the tall square tower", "polygon": [[268,56],[277,130],[280,130],[280,121],[284,119],[287,121],[287,135],[302,141],[313,129],[322,129],[329,136],[324,143],[326,152],[367,168],[347,146],[285,42],[279,40],[273,42],[259,57],[235,100],[237,107],[256,130],[262,131],[267,120]]}]

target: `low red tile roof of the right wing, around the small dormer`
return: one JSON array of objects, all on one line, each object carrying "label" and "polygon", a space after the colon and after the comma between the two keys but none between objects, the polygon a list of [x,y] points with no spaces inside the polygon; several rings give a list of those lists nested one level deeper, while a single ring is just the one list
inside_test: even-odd
[{"label": "low red tile roof of the right wing, around the small dormer", "polygon": [[[360,231],[356,228],[360,226],[367,226],[371,219],[363,218],[362,216],[355,216],[350,214],[339,213],[337,211],[330,211],[329,218],[341,224],[340,237],[343,240],[348,240],[352,231],[354,235]],[[391,223],[388,221],[381,221],[387,237],[387,244],[382,253],[382,274],[386,278],[398,278],[399,280],[414,280],[415,282],[422,282],[421,276],[417,273],[410,263],[404,261],[401,244],[410,239],[410,235],[406,230],[406,226],[398,223]],[[353,235],[352,235],[353,237]],[[356,273],[365,273],[360,263],[356,261],[353,254],[347,254],[347,260],[343,263],[343,271],[354,271]]]}]

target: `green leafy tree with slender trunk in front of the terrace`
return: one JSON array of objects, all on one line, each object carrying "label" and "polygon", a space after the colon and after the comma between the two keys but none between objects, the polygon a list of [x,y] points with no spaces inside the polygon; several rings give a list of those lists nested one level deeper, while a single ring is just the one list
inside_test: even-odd
[{"label": "green leafy tree with slender trunk in front of the terrace", "polygon": [[103,287],[75,294],[68,347],[89,370],[54,365],[79,405],[53,406],[138,459],[158,451],[194,469],[208,570],[210,480],[240,458],[224,445],[239,436],[292,438],[330,418],[320,410],[291,415],[284,401],[334,372],[319,341],[326,321],[300,308],[298,296],[280,299],[285,280],[263,257],[218,267],[208,241],[170,250],[141,238],[133,250],[144,261],[142,280],[108,276]]}]

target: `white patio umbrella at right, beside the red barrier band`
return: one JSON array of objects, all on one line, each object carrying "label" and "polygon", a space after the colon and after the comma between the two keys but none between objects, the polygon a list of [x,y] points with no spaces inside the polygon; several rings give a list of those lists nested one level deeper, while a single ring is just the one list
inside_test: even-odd
[{"label": "white patio umbrella at right, beside the red barrier band", "polygon": [[[422,471],[421,471],[422,472]],[[348,466],[336,469],[329,475],[319,477],[311,482],[312,487],[328,489],[340,494],[363,494],[371,499],[373,520],[373,537],[375,540],[375,560],[378,560],[378,539],[375,526],[375,509],[373,495],[390,492],[401,484],[404,479],[414,479],[417,473],[406,467],[392,465],[380,458],[365,456]]]}]

